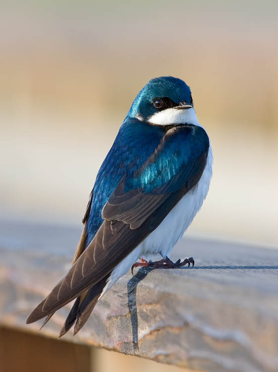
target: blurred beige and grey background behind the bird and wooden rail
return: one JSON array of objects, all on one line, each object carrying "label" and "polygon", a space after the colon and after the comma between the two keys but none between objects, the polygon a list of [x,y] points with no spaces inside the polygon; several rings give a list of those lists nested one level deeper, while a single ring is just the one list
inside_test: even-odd
[{"label": "blurred beige and grey background behind the bird and wooden rail", "polygon": [[275,0],[1,2],[0,219],[81,227],[133,99],[173,75],[215,159],[188,235],[277,248],[277,16]]}]

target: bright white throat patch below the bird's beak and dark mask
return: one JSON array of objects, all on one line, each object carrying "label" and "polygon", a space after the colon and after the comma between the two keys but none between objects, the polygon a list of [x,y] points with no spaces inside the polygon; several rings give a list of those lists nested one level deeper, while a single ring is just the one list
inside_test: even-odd
[{"label": "bright white throat patch below the bird's beak and dark mask", "polygon": [[[153,114],[149,119],[148,123],[158,125],[169,125],[169,124],[193,124],[199,125],[195,110],[190,109],[165,109],[158,113]],[[199,125],[200,126],[200,125]]]}]

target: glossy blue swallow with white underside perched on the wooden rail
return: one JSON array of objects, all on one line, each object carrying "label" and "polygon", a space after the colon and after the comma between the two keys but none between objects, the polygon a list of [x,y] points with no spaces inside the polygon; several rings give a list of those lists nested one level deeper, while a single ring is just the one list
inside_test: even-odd
[{"label": "glossy blue swallow with white underside perched on the wooden rail", "polygon": [[[193,266],[192,257],[169,256],[203,204],[212,163],[189,86],[173,76],[149,80],[97,173],[72,266],[26,323],[46,317],[44,326],[75,299],[59,337],[73,325],[76,334],[131,267]],[[162,259],[149,260],[153,255]]]}]

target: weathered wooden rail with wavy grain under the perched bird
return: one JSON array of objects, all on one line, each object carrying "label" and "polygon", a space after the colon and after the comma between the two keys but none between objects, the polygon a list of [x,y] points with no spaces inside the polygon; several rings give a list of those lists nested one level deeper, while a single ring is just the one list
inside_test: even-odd
[{"label": "weathered wooden rail with wavy grain under the perched bird", "polygon": [[[0,323],[28,313],[70,266],[80,231],[0,223]],[[172,258],[193,269],[129,272],[74,338],[121,353],[204,371],[278,371],[278,250],[185,239]],[[58,335],[70,306],[41,331]]]}]

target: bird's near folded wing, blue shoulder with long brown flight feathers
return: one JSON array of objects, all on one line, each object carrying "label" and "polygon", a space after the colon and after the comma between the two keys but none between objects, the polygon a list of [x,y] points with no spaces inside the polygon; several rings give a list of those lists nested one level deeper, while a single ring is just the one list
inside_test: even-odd
[{"label": "bird's near folded wing, blue shoulder with long brown flight feathers", "polygon": [[103,208],[104,221],[92,242],[27,322],[61,308],[110,273],[197,184],[208,149],[201,127],[169,129],[142,167],[122,178]]}]

